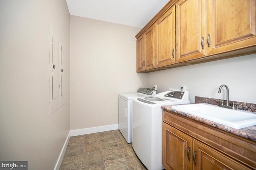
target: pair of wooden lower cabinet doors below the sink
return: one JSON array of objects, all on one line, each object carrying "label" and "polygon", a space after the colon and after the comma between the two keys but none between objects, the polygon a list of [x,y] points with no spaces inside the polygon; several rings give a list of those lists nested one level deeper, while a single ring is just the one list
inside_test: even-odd
[{"label": "pair of wooden lower cabinet doors below the sink", "polygon": [[242,162],[162,123],[162,165],[166,170],[246,170]]}]

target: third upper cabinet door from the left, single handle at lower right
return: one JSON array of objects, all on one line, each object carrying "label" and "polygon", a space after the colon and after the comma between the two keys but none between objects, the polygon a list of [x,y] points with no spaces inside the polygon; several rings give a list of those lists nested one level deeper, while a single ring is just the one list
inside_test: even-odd
[{"label": "third upper cabinet door from the left, single handle at lower right", "polygon": [[175,6],[156,21],[156,67],[175,63]]}]

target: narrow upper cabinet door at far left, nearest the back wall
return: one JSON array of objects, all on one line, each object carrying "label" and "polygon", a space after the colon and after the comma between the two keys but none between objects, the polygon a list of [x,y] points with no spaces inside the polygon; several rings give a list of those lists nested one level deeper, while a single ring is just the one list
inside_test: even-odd
[{"label": "narrow upper cabinet door at far left, nearest the back wall", "polygon": [[144,65],[144,34],[137,39],[137,72],[143,71]]}]

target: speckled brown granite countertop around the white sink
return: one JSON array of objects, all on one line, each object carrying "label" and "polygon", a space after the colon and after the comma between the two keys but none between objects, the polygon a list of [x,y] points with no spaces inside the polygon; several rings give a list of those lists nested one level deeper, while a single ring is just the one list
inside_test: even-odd
[{"label": "speckled brown granite countertop around the white sink", "polygon": [[[209,98],[207,98],[209,99]],[[216,101],[216,100],[215,100]],[[197,103],[197,101],[196,101]],[[209,102],[201,102],[201,103],[209,103]],[[211,103],[209,103],[211,104]],[[251,126],[251,127],[246,127],[246,128],[241,128],[241,129],[236,129],[236,128],[232,128],[232,127],[228,127],[213,121],[209,121],[194,115],[190,115],[188,113],[184,113],[182,111],[177,111],[175,109],[172,109],[172,105],[168,105],[168,106],[161,106],[162,109],[166,110],[166,111],[172,111],[174,113],[177,113],[178,115],[182,115],[184,117],[193,119],[195,121],[201,122],[201,123],[205,123],[206,125],[210,125],[212,127],[216,127],[219,128],[221,130],[224,130],[226,132],[230,132],[232,134],[247,138],[249,140],[253,140],[256,142],[256,125]]]}]

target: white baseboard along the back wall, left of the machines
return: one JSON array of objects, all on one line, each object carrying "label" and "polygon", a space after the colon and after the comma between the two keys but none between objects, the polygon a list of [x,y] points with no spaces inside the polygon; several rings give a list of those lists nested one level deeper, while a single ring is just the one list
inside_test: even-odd
[{"label": "white baseboard along the back wall, left of the machines", "polygon": [[102,127],[81,128],[81,129],[76,129],[76,130],[70,130],[70,136],[78,136],[78,135],[83,135],[83,134],[105,132],[108,130],[116,130],[116,129],[118,129],[118,124],[106,125],[106,126],[102,126]]}]

